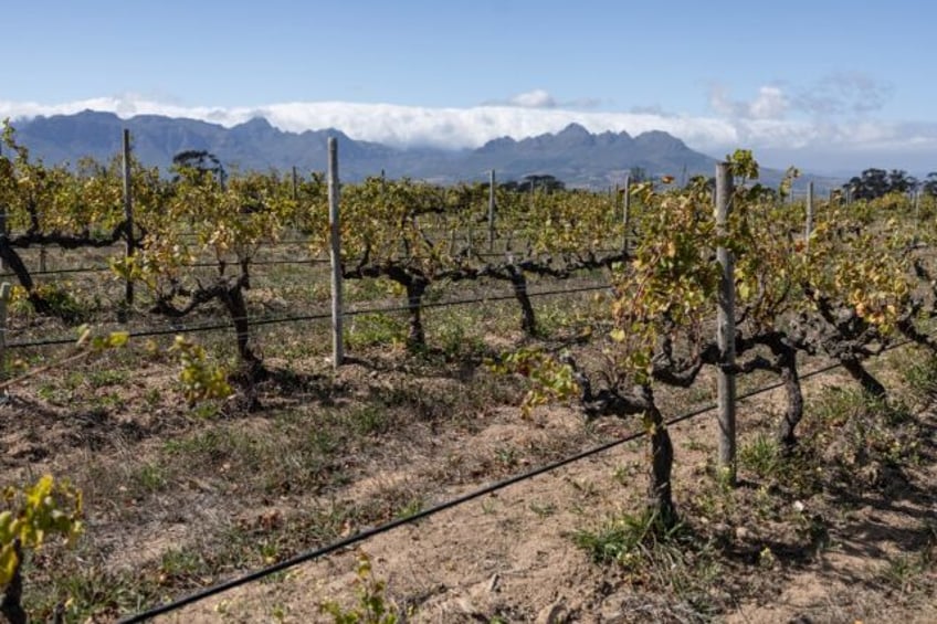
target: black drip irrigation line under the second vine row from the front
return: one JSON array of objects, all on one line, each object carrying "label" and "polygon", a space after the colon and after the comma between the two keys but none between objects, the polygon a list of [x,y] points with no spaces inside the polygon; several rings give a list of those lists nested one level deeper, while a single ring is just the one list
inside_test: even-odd
[{"label": "black drip irrigation line under the second vine row from the front", "polygon": [[[609,286],[581,286],[577,288],[568,288],[561,290],[541,290],[528,293],[529,297],[546,297],[552,295],[566,295],[566,294],[576,294],[576,293],[585,293],[590,290],[604,290],[608,289]],[[496,295],[493,297],[475,297],[471,299],[452,299],[448,302],[434,302],[423,304],[421,308],[442,308],[442,307],[454,307],[462,305],[471,305],[471,304],[484,304],[487,302],[503,302],[508,299],[514,299],[514,295]],[[354,317],[361,316],[366,314],[387,314],[387,313],[401,313],[401,311],[410,311],[409,306],[390,306],[382,308],[364,308],[364,309],[351,309],[343,313],[343,317]],[[286,317],[274,317],[274,318],[261,318],[261,319],[251,319],[246,318],[248,325],[250,327],[260,327],[263,325],[280,325],[287,322],[301,322],[308,320],[326,320],[331,318],[331,313],[318,313],[318,314],[309,314],[309,315],[299,315],[299,316],[286,316]],[[176,334],[198,334],[201,331],[220,331],[232,328],[232,322],[235,320],[245,320],[243,318],[231,319],[231,322],[223,324],[210,324],[210,325],[194,325],[191,327],[186,326],[176,326],[169,327],[166,329],[141,329],[138,331],[129,331],[130,338],[151,338],[157,336],[171,336]],[[7,331],[7,330],[2,330]],[[75,338],[50,338],[48,340],[29,340],[29,341],[13,341],[8,342],[6,347],[8,349],[27,349],[33,347],[54,347],[61,345],[72,345],[75,342]]]}]

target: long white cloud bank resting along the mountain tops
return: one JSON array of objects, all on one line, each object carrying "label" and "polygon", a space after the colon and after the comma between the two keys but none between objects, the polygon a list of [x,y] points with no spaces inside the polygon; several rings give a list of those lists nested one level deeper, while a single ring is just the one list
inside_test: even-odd
[{"label": "long white cloud bank resting along the mountain tops", "polygon": [[670,114],[660,106],[598,110],[598,101],[560,102],[547,91],[535,89],[468,108],[348,102],[222,108],[128,94],[53,105],[0,101],[0,117],[92,109],[123,118],[188,117],[225,127],[264,117],[287,131],[338,128],[358,140],[451,149],[476,148],[503,136],[522,139],[558,133],[576,123],[591,133],[627,131],[634,136],[663,130],[715,157],[736,148],[754,149],[757,158],[773,167],[798,165],[829,171],[871,166],[937,169],[937,124],[885,121],[873,116],[888,99],[889,89],[889,85],[861,75],[835,75],[802,89],[766,85],[749,101],[741,101],[734,99],[726,87],[712,85],[708,96],[713,114],[707,116]]}]

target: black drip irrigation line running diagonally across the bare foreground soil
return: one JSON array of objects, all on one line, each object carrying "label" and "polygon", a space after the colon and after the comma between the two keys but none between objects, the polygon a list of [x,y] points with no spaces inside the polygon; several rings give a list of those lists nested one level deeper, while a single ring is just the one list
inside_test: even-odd
[{"label": "black drip irrigation line running diagonally across the bare foreground soil", "polygon": [[[897,349],[898,347],[904,347],[905,345],[908,345],[910,342],[912,342],[912,340],[904,340],[904,341],[901,341],[901,342],[896,342],[894,345],[889,345],[889,346],[885,347],[884,349],[882,349],[882,351],[876,353],[876,356],[882,355],[885,351],[889,351],[892,349]],[[835,370],[838,368],[842,368],[842,364],[841,363],[834,363],[834,364],[821,367],[819,369],[809,371],[809,372],[800,376],[800,379],[801,380],[810,379],[812,377],[817,377],[817,376],[830,372],[831,370]],[[783,387],[783,382],[777,382],[777,383],[764,385],[761,388],[751,390],[749,392],[745,392],[745,393],[736,396],[736,401],[744,401],[746,399],[751,399],[752,396],[757,396],[759,394],[764,394],[766,392],[770,392],[772,390],[777,390],[777,389],[782,388],[782,387]],[[680,424],[682,422],[688,421],[691,419],[695,419],[697,416],[701,416],[701,415],[703,415],[707,412],[715,410],[717,406],[718,405],[716,403],[708,403],[706,405],[703,405],[701,408],[692,410],[692,411],[689,411],[685,414],[682,414],[680,416],[675,416],[673,419],[667,420],[664,423],[664,426],[673,426],[673,425]],[[494,494],[496,491],[505,489],[506,487],[509,487],[512,485],[516,485],[518,483],[529,480],[534,477],[538,477],[543,474],[550,473],[550,472],[554,472],[556,469],[562,468],[562,467],[568,466],[570,464],[581,462],[582,459],[587,459],[587,458],[589,458],[593,455],[599,455],[601,453],[604,453],[606,451],[610,451],[610,450],[612,450],[617,446],[621,446],[622,444],[627,444],[629,442],[634,442],[635,440],[640,440],[642,437],[645,437],[646,435],[648,435],[646,430],[630,433],[630,434],[628,434],[623,437],[620,437],[618,440],[613,440],[611,442],[607,442],[607,443],[601,444],[599,446],[593,446],[592,448],[588,448],[586,451],[582,451],[581,453],[577,453],[576,455],[565,457],[562,459],[558,459],[558,461],[552,462],[550,464],[546,464],[546,465],[540,466],[538,468],[534,468],[531,470],[520,473],[519,475],[515,475],[513,477],[508,477],[508,478],[499,480],[499,482],[495,482],[495,483],[487,485],[487,486],[485,486],[481,489],[476,489],[476,490],[473,490],[473,491],[465,494],[463,496],[452,498],[450,500],[446,500],[444,503],[441,503],[439,505],[430,507],[429,509],[424,509],[422,511],[413,514],[412,516],[407,516],[406,518],[398,518],[396,520],[391,520],[390,522],[386,522],[383,525],[370,527],[368,529],[359,531],[359,532],[355,533],[354,536],[349,536],[349,537],[347,537],[343,540],[339,540],[337,542],[333,542],[330,544],[327,544],[327,546],[324,546],[324,547],[320,547],[320,548],[317,548],[317,549],[314,549],[314,550],[308,550],[306,552],[302,552],[299,554],[291,557],[289,559],[285,559],[285,560],[281,561],[278,563],[274,563],[273,565],[269,565],[266,568],[261,568],[260,570],[255,570],[255,571],[253,571],[249,574],[244,574],[242,577],[236,577],[236,578],[231,579],[229,581],[225,581],[223,583],[219,583],[217,585],[206,588],[204,590],[194,592],[192,594],[189,594],[189,595],[183,596],[181,599],[175,600],[172,602],[168,602],[166,604],[155,606],[155,607],[149,609],[147,611],[141,611],[139,613],[136,613],[134,615],[130,615],[130,616],[127,616],[125,618],[119,620],[118,623],[119,624],[135,624],[135,623],[138,623],[138,622],[145,622],[145,621],[150,620],[152,617],[156,617],[158,615],[164,615],[164,614],[170,613],[172,611],[178,611],[179,609],[187,606],[189,604],[200,602],[204,599],[211,597],[213,595],[218,595],[218,594],[227,592],[229,590],[233,590],[234,588],[239,588],[239,586],[245,585],[248,583],[252,583],[254,581],[260,581],[262,579],[265,579],[266,577],[270,577],[270,575],[275,574],[277,572],[282,572],[282,571],[284,571],[288,568],[293,568],[295,565],[299,565],[301,563],[306,563],[306,562],[313,561],[315,559],[319,559],[322,557],[325,557],[326,554],[330,554],[330,553],[333,553],[337,550],[341,550],[344,548],[348,548],[349,546],[354,546],[356,543],[369,540],[369,539],[377,537],[381,533],[390,532],[390,531],[392,531],[397,528],[400,528],[400,527],[403,527],[403,526],[407,526],[407,525],[413,525],[413,523],[415,523],[420,520],[423,520],[423,519],[429,518],[431,516],[435,516],[435,515],[438,515],[442,511],[445,511],[448,509],[459,507],[461,505],[464,505],[466,503],[471,503],[472,500],[475,500],[475,499],[481,498],[483,496],[487,496],[489,494]]]}]

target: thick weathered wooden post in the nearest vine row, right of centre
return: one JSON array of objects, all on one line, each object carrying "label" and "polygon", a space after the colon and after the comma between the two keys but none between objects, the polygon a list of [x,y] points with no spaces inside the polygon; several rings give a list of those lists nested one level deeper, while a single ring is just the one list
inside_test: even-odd
[{"label": "thick weathered wooden post in the nearest vine row, right of centre", "polygon": [[[727,234],[731,211],[733,179],[728,162],[716,165],[716,233]],[[726,482],[735,485],[735,278],[731,252],[724,246],[716,250],[716,260],[723,267],[716,315],[716,340],[722,352],[718,371],[719,392],[719,468]]]}]

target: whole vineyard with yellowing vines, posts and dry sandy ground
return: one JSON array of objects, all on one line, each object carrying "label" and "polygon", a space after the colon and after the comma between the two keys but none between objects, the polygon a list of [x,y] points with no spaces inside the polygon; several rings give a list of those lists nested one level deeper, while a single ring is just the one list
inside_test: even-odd
[{"label": "whole vineyard with yellowing vines, posts and dry sandy ground", "polygon": [[48,167],[7,127],[9,621],[937,609],[933,197],[333,156]]}]

